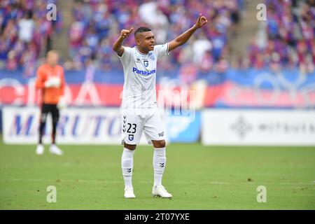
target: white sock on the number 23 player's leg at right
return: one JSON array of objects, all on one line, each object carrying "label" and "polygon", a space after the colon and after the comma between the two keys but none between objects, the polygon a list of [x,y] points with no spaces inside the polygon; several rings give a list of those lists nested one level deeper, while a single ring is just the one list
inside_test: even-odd
[{"label": "white sock on the number 23 player's leg at right", "polygon": [[162,176],[166,165],[166,153],[164,148],[154,148],[153,169],[154,186],[162,185]]}]

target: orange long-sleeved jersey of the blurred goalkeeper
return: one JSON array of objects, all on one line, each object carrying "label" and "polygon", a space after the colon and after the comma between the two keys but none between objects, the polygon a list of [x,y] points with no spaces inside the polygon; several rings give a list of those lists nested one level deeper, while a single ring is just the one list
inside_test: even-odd
[{"label": "orange long-sleeved jersey of the blurred goalkeeper", "polygon": [[[43,64],[39,66],[36,72],[36,89],[40,89],[43,93],[43,103],[44,104],[57,104],[59,98],[64,94],[64,69],[62,66],[56,65],[54,67]],[[45,81],[52,77],[60,78],[59,87],[45,87]]]}]

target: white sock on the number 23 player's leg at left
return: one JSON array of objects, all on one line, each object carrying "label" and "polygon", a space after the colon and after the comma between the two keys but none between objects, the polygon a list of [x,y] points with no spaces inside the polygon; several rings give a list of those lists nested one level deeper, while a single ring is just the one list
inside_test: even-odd
[{"label": "white sock on the number 23 player's leg at left", "polygon": [[125,188],[132,188],[132,169],[134,167],[134,150],[124,148],[121,157],[121,169],[125,181]]}]

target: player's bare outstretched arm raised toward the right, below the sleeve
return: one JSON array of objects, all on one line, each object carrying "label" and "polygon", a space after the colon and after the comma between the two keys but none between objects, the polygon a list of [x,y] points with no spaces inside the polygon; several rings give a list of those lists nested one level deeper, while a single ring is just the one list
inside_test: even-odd
[{"label": "player's bare outstretched arm raised toward the right, below the sleeve", "polygon": [[197,22],[195,23],[195,25],[193,25],[193,27],[188,29],[188,31],[186,31],[185,33],[177,36],[173,41],[169,42],[169,51],[174,50],[178,46],[183,45],[184,43],[186,43],[189,40],[190,36],[193,35],[193,33],[197,29],[203,27],[207,22],[208,22],[207,18],[205,18],[200,13],[199,18],[198,18]]}]

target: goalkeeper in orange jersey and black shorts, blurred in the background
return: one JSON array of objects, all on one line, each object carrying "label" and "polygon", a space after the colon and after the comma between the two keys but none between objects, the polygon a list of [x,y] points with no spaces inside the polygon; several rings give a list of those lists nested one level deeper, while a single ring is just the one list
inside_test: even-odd
[{"label": "goalkeeper in orange jersey and black shorts, blurred in the background", "polygon": [[41,155],[44,152],[43,132],[45,129],[46,119],[49,113],[52,116],[52,134],[50,153],[62,155],[63,152],[55,145],[56,128],[59,120],[59,106],[62,104],[64,94],[64,70],[58,63],[59,55],[55,50],[47,53],[46,63],[37,69],[36,89],[42,92],[41,117],[39,123],[39,139],[36,148],[36,154]]}]

